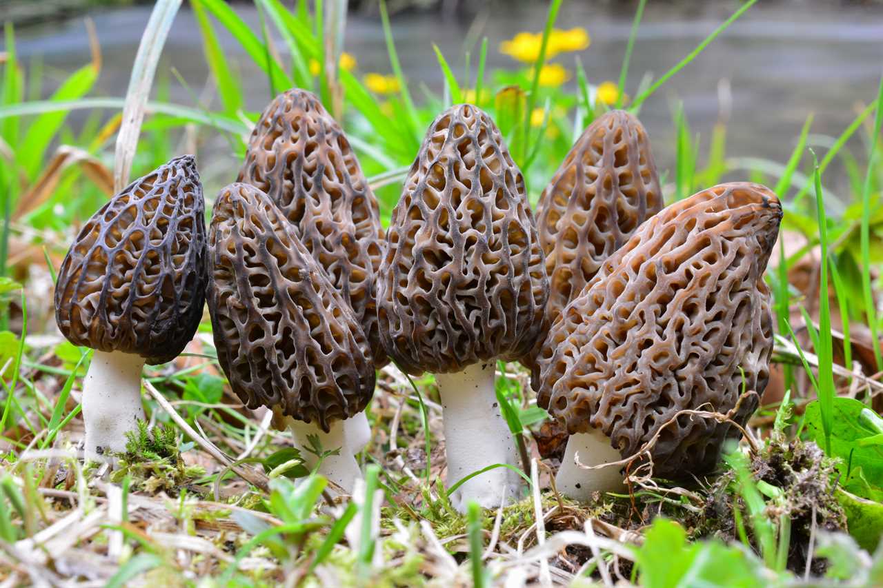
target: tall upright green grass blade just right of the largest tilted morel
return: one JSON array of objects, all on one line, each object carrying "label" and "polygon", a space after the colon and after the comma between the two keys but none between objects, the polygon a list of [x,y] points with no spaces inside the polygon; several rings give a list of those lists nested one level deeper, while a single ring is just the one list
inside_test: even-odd
[{"label": "tall upright green grass blade just right of the largest tilted morel", "polygon": [[821,263],[819,264],[819,349],[816,350],[816,355],[819,356],[819,408],[821,409],[822,426],[825,429],[825,450],[830,456],[836,390],[834,389],[834,358],[831,342],[831,311],[828,307],[827,268],[829,260],[827,219],[823,202],[819,161],[816,159],[815,154],[812,154],[812,159],[815,168],[816,210],[819,215],[819,248],[821,257]]}]

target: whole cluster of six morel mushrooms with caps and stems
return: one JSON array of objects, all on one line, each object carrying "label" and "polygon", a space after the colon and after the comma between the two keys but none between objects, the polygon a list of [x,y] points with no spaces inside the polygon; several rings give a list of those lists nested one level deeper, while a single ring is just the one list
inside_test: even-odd
[{"label": "whole cluster of six morel mushrooms with caps and stems", "polygon": [[[320,471],[343,493],[360,477],[364,411],[390,360],[435,374],[449,486],[517,463],[497,360],[527,366],[538,403],[570,433],[562,494],[618,489],[636,454],[657,476],[690,479],[713,469],[766,387],[763,273],[781,215],[773,192],[748,183],[662,208],[646,132],[617,110],[577,140],[535,220],[494,121],[460,104],[430,125],[384,236],[340,125],[291,90],[260,117],[208,237],[185,155],[132,182],[71,246],[55,303],[64,335],[95,350],[86,457],[124,449],[144,418],[142,367],[184,349],[208,299],[232,389],[272,409],[308,465],[307,435],[339,449]],[[584,467],[601,464],[613,465]],[[518,485],[492,468],[451,500],[495,507]]]}]

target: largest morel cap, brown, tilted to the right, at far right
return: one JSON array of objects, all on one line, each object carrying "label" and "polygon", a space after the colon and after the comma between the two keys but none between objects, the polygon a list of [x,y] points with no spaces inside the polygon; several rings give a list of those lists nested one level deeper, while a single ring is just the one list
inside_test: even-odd
[{"label": "largest morel cap, brown, tilted to the right, at far right", "polygon": [[[660,427],[654,473],[683,479],[713,468],[743,387],[762,393],[773,350],[763,280],[781,221],[773,192],[717,185],[641,225],[559,315],[540,356],[538,403],[570,433],[600,429],[623,457]],[[757,407],[736,410],[743,424]]]}]

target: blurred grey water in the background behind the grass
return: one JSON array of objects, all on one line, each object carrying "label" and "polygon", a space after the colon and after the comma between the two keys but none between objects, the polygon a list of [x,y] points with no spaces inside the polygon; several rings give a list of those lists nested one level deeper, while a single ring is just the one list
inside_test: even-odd
[{"label": "blurred grey water in the background behind the grass", "polygon": [[[645,72],[659,76],[667,71],[741,3],[653,0],[648,4],[626,87],[631,95]],[[437,91],[443,85],[432,43],[439,45],[461,76],[467,36],[475,41],[487,35],[488,67],[517,66],[499,52],[500,41],[519,31],[540,30],[547,3],[514,3],[505,10],[499,8],[504,3],[494,5],[496,9],[479,9],[477,16],[468,18],[416,11],[393,17],[396,49],[416,99],[421,95],[420,84]],[[592,83],[618,78],[635,6],[574,0],[562,7],[557,25],[584,26],[592,37],[591,47],[579,54]],[[252,5],[236,4],[235,8],[255,30],[259,29],[260,19]],[[103,55],[97,94],[125,95],[149,12],[149,6],[138,6],[89,15],[94,19]],[[238,63],[249,94],[248,108],[262,109],[270,97],[264,75],[250,64],[236,41],[224,35],[220,27],[218,30],[227,55]],[[82,17],[20,29],[18,43],[22,57],[42,57],[50,78],[44,93],[51,91],[52,78],[57,83],[61,72],[71,72],[89,59]],[[389,72],[379,19],[351,14],[345,50],[358,58],[359,72]],[[477,46],[473,55],[477,55]],[[555,62],[572,70],[573,59],[569,54],[555,58]],[[170,73],[171,67],[187,81],[189,92]],[[660,169],[671,168],[675,161],[672,121],[678,100],[683,101],[691,130],[700,134],[704,149],[713,124],[723,117],[728,121],[728,156],[785,162],[807,115],[815,113],[811,144],[824,147],[826,139],[821,135],[842,132],[856,116],[857,105],[873,100],[881,73],[883,5],[831,0],[761,2],[646,102],[641,119],[653,140]],[[169,79],[171,100],[187,105],[193,104],[190,92],[199,94],[207,83],[199,29],[186,6],[172,28],[158,76]],[[723,112],[721,95],[725,98]],[[205,162],[203,155],[200,167],[229,170],[226,142],[218,140],[215,147],[217,157]],[[851,148],[855,155],[863,153],[855,142]],[[700,154],[700,164],[704,159]],[[826,185],[846,192],[844,176],[834,166],[826,175]]]}]

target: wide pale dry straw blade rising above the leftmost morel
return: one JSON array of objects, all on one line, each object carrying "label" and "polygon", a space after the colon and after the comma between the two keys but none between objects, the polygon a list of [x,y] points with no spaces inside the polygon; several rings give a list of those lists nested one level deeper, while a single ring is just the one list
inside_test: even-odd
[{"label": "wide pale dry straw blade rising above the leftmost morel", "polygon": [[157,0],[141,36],[138,54],[132,65],[129,89],[125,94],[123,123],[117,135],[117,153],[113,170],[114,192],[121,191],[129,182],[141,123],[144,121],[144,112],[147,108],[147,97],[154,84],[156,64],[159,63],[162,46],[165,45],[171,24],[180,7],[181,0]]}]

